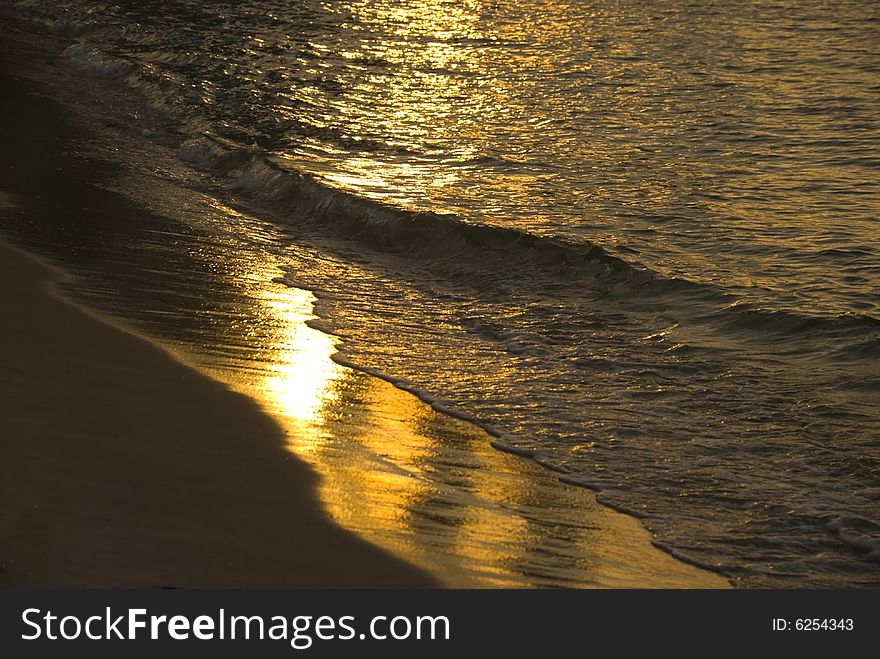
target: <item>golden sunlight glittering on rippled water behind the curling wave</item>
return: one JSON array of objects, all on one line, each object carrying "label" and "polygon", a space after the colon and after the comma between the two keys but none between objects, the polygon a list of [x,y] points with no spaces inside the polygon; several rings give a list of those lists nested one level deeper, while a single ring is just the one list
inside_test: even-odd
[{"label": "golden sunlight glittering on rippled water behind the curling wave", "polygon": [[[546,44],[517,47],[515,57],[509,44],[571,39],[569,23],[545,11],[540,29],[530,31],[516,20],[487,21],[493,12],[481,0],[347,4],[352,25],[382,25],[383,33],[339,44],[352,63],[344,93],[301,86],[286,93],[296,107],[317,108],[295,117],[316,136],[276,157],[331,186],[409,210],[492,223],[499,209],[529,209],[532,225],[546,224],[535,202],[546,199],[554,173],[539,154],[556,122],[535,123],[552,102],[535,80],[553,67]],[[278,111],[286,116],[288,109]],[[559,117],[581,111],[554,109]],[[339,142],[327,130],[358,137]],[[582,145],[571,139],[563,151],[575,154]],[[567,190],[568,203],[583,202],[576,187]]]}]

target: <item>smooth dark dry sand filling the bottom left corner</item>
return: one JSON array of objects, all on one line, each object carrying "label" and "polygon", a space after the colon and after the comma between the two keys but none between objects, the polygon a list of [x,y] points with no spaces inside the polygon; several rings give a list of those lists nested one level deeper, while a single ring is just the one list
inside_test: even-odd
[{"label": "smooth dark dry sand filling the bottom left corner", "polygon": [[0,244],[0,586],[392,587],[248,398],[50,293]]}]

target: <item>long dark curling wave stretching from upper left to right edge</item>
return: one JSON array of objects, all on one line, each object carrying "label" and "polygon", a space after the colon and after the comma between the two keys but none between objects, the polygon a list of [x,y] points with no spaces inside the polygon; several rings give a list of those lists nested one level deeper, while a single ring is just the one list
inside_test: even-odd
[{"label": "long dark curling wave stretching from upper left to right edge", "polygon": [[[145,89],[149,76],[142,75],[138,65],[103,53],[87,42],[69,46],[64,56],[87,74],[119,79],[147,96],[166,96]],[[711,284],[661,276],[589,242],[475,224],[451,214],[415,212],[359,197],[287,166],[260,147],[215,135],[197,120],[186,120],[181,127],[193,135],[178,149],[184,162],[224,179],[238,194],[263,202],[272,217],[309,221],[359,246],[405,256],[432,275],[483,288],[503,280],[502,288],[507,290],[534,286],[542,294],[581,291],[586,284],[616,297],[637,295],[643,303],[669,296],[663,304],[703,309],[690,313],[690,320],[725,333],[758,332],[769,339],[855,337],[851,345],[834,348],[841,351],[840,357],[860,359],[877,353],[875,333],[880,330],[880,320],[871,316],[761,308]],[[823,256],[846,255],[826,250]],[[517,349],[517,343],[511,343],[511,350]]]}]

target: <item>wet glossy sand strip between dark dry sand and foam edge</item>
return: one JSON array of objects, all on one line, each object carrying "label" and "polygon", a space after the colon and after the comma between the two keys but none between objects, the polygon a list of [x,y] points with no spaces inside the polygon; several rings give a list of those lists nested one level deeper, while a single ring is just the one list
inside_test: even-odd
[{"label": "wet glossy sand strip between dark dry sand and foam edge", "polygon": [[[484,431],[436,412],[388,382],[333,365],[330,337],[310,330],[304,323],[311,306],[306,304],[303,310],[304,300],[297,296],[305,291],[273,285],[271,264],[236,264],[231,252],[217,250],[213,254],[210,250],[216,247],[206,243],[204,236],[188,233],[190,229],[175,229],[170,217],[164,218],[108,191],[102,181],[108,176],[109,163],[84,161],[61,148],[84,137],[68,126],[70,117],[66,113],[78,110],[33,94],[30,82],[17,80],[6,87],[21,88],[27,96],[26,100],[19,97],[21,107],[10,104],[5,108],[7,119],[13,113],[13,120],[6,123],[16,128],[4,131],[14,154],[6,162],[14,165],[8,166],[0,189],[0,210],[5,205],[16,222],[19,218],[32,222],[33,226],[22,235],[17,235],[18,230],[12,232],[16,242],[57,262],[75,279],[75,287],[64,287],[59,304],[69,306],[72,313],[84,314],[105,331],[109,327],[135,342],[146,342],[161,360],[171,360],[180,372],[204,374],[198,378],[211,383],[223,396],[242,403],[233,404],[232,409],[241,412],[243,406],[249,407],[259,415],[254,423],[267,428],[264,439],[271,440],[272,455],[279,462],[295,465],[295,474],[285,478],[293,479],[290,485],[296,492],[284,496],[304,502],[308,515],[319,517],[316,523],[330,529],[325,529],[328,537],[338,533],[349,542],[355,538],[353,531],[359,539],[350,548],[352,551],[367,547],[368,553],[375,552],[383,564],[388,563],[392,575],[388,580],[377,578],[365,585],[391,587],[398,583],[398,577],[404,585],[436,584],[401,562],[405,560],[453,587],[729,586],[723,576],[686,565],[654,547],[650,534],[636,519],[599,505],[592,492],[563,485],[556,475],[537,464],[492,448],[492,438]],[[9,98],[16,97],[10,94]],[[113,126],[113,115],[105,121]],[[75,200],[70,206],[69,199]],[[180,245],[174,247],[178,241]],[[138,262],[138,245],[147,242],[155,243],[154,249],[159,251],[145,255],[149,260]],[[187,258],[187,252],[203,258],[207,254],[208,267]],[[230,261],[224,268],[244,269],[214,272],[210,266],[221,262],[217,257]],[[117,263],[120,259],[121,265]],[[157,261],[164,263],[168,272],[179,272],[179,280],[166,272],[168,280],[157,281],[156,272],[151,270]],[[242,289],[243,282],[250,282],[250,288]],[[163,295],[168,299],[161,301]],[[196,301],[199,306],[189,306]],[[145,324],[146,316],[140,311],[147,308],[161,312],[150,316],[151,322],[155,318],[163,320]],[[169,312],[175,315],[168,316]],[[235,322],[224,321],[229,326],[207,328],[184,326],[196,314]],[[116,318],[121,319],[119,323]],[[251,330],[256,325],[271,325],[277,334],[248,337],[245,341],[236,322]],[[127,329],[129,325],[135,328],[135,334]],[[312,334],[307,335],[309,332]],[[280,339],[286,348],[275,348],[268,356],[257,354],[265,350],[260,338],[270,343]],[[253,347],[235,356],[240,359],[243,355],[251,361],[239,362],[233,368],[226,368],[220,363],[222,359],[212,362],[218,355],[222,357],[229,345],[243,341],[253,341]],[[291,367],[297,362],[298,351],[303,350],[301,344],[311,346],[312,352],[305,355],[307,359],[297,371]],[[0,364],[0,368],[3,366]],[[320,387],[326,382],[311,382],[311,398],[303,396],[309,384],[303,377],[315,369],[342,371],[341,376],[333,376],[334,386],[342,393],[331,404],[320,402],[320,409],[314,405],[321,399]],[[53,382],[60,375],[64,373],[57,369],[46,373]],[[115,376],[89,384],[97,387],[98,393],[104,389],[115,393],[119,388]],[[34,392],[31,404],[40,400],[39,388],[35,387]],[[169,402],[174,401],[164,401]],[[303,406],[308,409],[299,409]],[[91,410],[96,427],[106,422],[99,412]],[[301,412],[307,413],[305,418],[296,417]],[[320,416],[317,426],[316,415]],[[181,412],[180,416],[186,423],[197,421],[190,413]],[[19,423],[27,425],[26,420],[19,419]],[[225,467],[215,465],[218,470],[255,459],[244,455],[250,451],[247,444],[236,446],[222,459]],[[264,458],[267,446],[261,443],[262,448],[258,447]],[[300,482],[303,479],[308,481],[305,488]],[[281,481],[278,477],[275,485],[283,489]],[[467,483],[464,489],[462,483]],[[250,492],[247,494],[250,496]],[[187,504],[192,506],[191,502]],[[212,537],[222,535],[216,531],[211,530]],[[269,542],[266,538],[270,529],[261,532],[264,539],[260,543]],[[548,549],[549,558],[545,556]],[[570,563],[560,565],[562,559]],[[4,562],[2,547],[0,562]],[[398,569],[405,574],[398,575]],[[314,581],[307,583],[333,586],[330,576],[324,581],[325,577],[315,575]],[[359,575],[349,576],[357,579]],[[2,578],[0,574],[0,584]],[[50,578],[47,583],[64,582]],[[215,583],[206,577],[200,583],[216,587],[226,582]],[[263,584],[244,578],[241,583]],[[299,584],[295,579],[291,583]]]}]

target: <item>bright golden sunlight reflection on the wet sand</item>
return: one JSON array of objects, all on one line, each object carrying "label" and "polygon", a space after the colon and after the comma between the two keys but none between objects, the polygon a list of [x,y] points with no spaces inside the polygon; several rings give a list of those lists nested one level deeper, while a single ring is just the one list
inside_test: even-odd
[{"label": "bright golden sunlight reflection on the wet sand", "polygon": [[320,499],[343,527],[454,586],[721,585],[479,428],[335,363],[334,337],[306,324],[315,297],[266,286],[270,273],[241,279],[274,337],[237,385],[321,475]]}]

